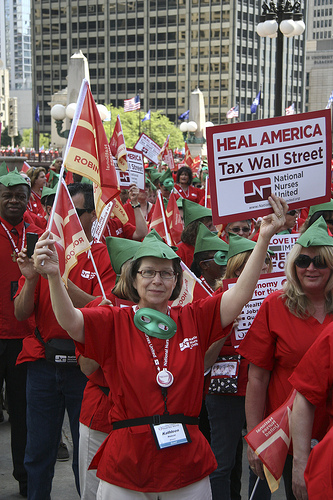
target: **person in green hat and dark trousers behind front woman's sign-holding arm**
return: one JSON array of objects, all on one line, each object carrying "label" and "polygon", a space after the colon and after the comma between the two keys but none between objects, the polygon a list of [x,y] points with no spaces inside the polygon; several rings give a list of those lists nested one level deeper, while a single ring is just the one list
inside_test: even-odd
[{"label": "person in green hat and dark trousers behind front woman's sign-holding arm", "polygon": [[[216,282],[221,293],[224,279],[239,278],[255,248],[247,238],[229,233],[229,251],[226,272]],[[261,274],[271,272],[272,261],[267,254]],[[228,337],[222,349],[219,342],[212,345],[205,356],[205,369],[212,367],[211,382],[206,396],[206,407],[211,427],[211,446],[217,460],[217,469],[211,474],[213,500],[240,497],[242,475],[242,430],[245,424],[245,391],[248,361],[237,354]],[[224,367],[235,367],[226,377]],[[222,376],[218,376],[218,369]]]}]

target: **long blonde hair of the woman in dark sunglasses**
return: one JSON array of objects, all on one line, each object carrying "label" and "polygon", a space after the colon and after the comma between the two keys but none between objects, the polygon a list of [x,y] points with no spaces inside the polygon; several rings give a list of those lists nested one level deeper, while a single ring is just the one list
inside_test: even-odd
[{"label": "long blonde hair of the woman in dark sunglasses", "polygon": [[[331,270],[331,275],[325,287],[325,311],[328,314],[333,313],[333,247],[321,246],[316,247],[319,255]],[[298,318],[306,318],[314,312],[314,307],[302,289],[301,283],[297,277],[295,260],[302,253],[303,247],[297,243],[291,249],[286,265],[285,275],[287,281],[283,285],[283,294],[281,298],[286,299],[286,306],[289,311]]]}]

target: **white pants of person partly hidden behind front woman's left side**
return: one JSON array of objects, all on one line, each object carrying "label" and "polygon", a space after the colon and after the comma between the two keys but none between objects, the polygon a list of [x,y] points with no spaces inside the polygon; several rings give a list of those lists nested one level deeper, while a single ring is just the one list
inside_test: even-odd
[{"label": "white pants of person partly hidden behind front woman's left side", "polygon": [[99,479],[96,477],[96,470],[88,470],[88,467],[107,436],[104,432],[94,431],[80,422],[79,479],[81,500],[96,500]]}]

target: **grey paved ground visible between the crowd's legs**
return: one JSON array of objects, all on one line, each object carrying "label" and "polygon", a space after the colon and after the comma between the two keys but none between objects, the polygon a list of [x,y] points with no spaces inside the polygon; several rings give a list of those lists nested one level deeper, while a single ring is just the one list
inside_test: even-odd
[{"label": "grey paved ground visible between the crowd's legs", "polygon": [[[10,423],[8,422],[7,413],[5,414],[5,422],[0,424],[0,500],[18,500],[22,497],[18,493],[18,483],[12,477],[12,463],[10,455]],[[74,484],[74,476],[71,467],[72,443],[67,419],[65,419],[63,427],[63,440],[67,444],[70,452],[70,460],[68,462],[57,462],[55,475],[52,487],[52,500],[78,500],[79,496],[76,492]],[[244,450],[246,446],[244,446]],[[243,484],[242,484],[242,499],[247,499],[248,488],[248,463],[244,453],[243,459]],[[279,490],[272,495],[272,500],[284,500],[283,484]]]}]

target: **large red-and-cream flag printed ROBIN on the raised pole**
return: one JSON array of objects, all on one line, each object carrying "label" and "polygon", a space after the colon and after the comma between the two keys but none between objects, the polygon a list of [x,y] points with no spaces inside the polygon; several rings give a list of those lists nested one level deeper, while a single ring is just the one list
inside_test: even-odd
[{"label": "large red-and-cream flag printed ROBIN on the raised pole", "polygon": [[99,217],[104,205],[120,190],[103,123],[87,80],[83,80],[81,85],[64,166],[70,172],[93,181],[95,208]]}]

